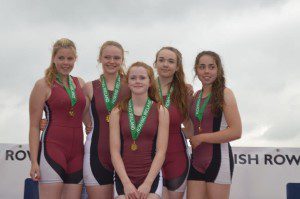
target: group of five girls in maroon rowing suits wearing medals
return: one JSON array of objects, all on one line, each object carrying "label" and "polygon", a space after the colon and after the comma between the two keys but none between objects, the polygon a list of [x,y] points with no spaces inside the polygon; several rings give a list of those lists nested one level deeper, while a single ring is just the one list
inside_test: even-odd
[{"label": "group of five girls in maroon rowing suits wearing medals", "polygon": [[187,198],[229,198],[229,141],[241,136],[241,121],[216,53],[196,57],[202,89],[195,94],[173,47],[156,53],[156,79],[143,62],[125,74],[124,49],[114,41],[100,48],[99,79],[71,76],[76,58],[74,43],[58,40],[30,96],[30,175],[40,198],[80,198],[83,182],[91,199],[177,199],[186,187]]}]

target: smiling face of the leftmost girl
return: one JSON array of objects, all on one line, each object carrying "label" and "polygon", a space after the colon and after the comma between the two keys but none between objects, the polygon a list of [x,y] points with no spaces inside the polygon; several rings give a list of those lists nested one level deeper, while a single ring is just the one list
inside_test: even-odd
[{"label": "smiling face of the leftmost girl", "polygon": [[69,75],[74,68],[76,55],[72,48],[60,48],[53,57],[56,70],[62,75]]}]

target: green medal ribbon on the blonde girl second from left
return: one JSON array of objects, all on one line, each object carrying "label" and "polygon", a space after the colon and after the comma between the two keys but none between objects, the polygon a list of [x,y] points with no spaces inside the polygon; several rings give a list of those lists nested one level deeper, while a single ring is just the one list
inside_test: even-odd
[{"label": "green medal ribbon on the blonde girl second from left", "polygon": [[104,102],[105,102],[108,112],[111,112],[111,110],[114,108],[115,103],[119,96],[119,91],[120,91],[120,87],[121,87],[121,77],[118,74],[116,82],[115,82],[114,93],[113,93],[112,99],[109,98],[109,93],[108,93],[107,84],[106,84],[104,75],[101,75],[100,78],[101,78],[101,86],[102,86],[102,91],[103,91]]}]

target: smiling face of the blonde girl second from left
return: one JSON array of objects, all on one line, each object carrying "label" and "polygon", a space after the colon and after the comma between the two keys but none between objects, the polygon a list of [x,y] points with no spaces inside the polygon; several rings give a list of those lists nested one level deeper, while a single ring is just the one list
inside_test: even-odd
[{"label": "smiling face of the blonde girl second from left", "polygon": [[106,46],[100,53],[99,61],[102,64],[103,73],[116,74],[123,63],[123,52],[112,45]]}]

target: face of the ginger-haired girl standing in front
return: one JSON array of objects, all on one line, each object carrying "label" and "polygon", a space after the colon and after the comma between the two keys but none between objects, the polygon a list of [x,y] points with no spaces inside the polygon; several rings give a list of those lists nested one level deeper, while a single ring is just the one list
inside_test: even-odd
[{"label": "face of the ginger-haired girl standing in front", "polygon": [[128,71],[128,87],[135,95],[147,93],[150,87],[147,69],[142,66],[131,67]]}]

